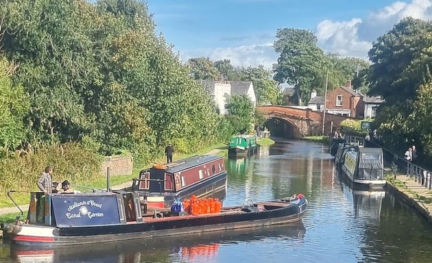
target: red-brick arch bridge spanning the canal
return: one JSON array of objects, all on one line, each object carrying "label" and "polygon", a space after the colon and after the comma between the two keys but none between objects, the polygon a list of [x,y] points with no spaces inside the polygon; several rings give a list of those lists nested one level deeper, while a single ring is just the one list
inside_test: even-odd
[{"label": "red-brick arch bridge spanning the canal", "polygon": [[[282,121],[284,134],[290,138],[301,138],[315,134],[322,134],[323,112],[311,109],[299,109],[290,106],[263,105],[258,107],[263,112],[265,118]],[[331,134],[335,127],[340,127],[342,121],[350,118],[326,113],[324,134]],[[351,118],[359,120],[359,118]]]}]

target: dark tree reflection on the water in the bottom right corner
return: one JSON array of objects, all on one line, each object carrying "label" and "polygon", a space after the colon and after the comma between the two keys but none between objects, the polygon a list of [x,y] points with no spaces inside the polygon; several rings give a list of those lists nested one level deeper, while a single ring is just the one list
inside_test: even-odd
[{"label": "dark tree reflection on the water in the bottom right corner", "polygon": [[431,262],[431,226],[391,194],[383,198],[379,222],[365,227],[364,236],[365,262]]}]

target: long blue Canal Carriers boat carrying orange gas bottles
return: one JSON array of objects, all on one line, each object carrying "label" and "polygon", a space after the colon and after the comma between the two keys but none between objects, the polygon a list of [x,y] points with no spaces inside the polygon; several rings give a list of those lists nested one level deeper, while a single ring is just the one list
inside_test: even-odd
[{"label": "long blue Canal Carriers boat carrying orange gas bottles", "polygon": [[[169,210],[147,212],[136,192],[57,193],[45,196],[43,192],[30,192],[30,197],[25,222],[17,218],[14,224],[1,224],[3,237],[14,246],[44,248],[105,244],[250,229],[296,223],[307,209],[307,199],[301,194],[274,201],[248,201],[244,205],[196,215]],[[36,199],[40,201],[41,197],[44,197],[45,203],[36,205]],[[37,216],[41,209],[45,214],[43,221],[38,220],[40,217]]]}]

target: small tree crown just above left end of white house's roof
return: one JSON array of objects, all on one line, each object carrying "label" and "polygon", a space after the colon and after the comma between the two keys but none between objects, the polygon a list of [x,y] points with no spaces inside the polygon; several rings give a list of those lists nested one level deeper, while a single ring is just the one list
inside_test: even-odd
[{"label": "small tree crown just above left end of white house's roof", "polygon": [[210,58],[189,58],[187,65],[194,79],[217,80],[221,75]]}]

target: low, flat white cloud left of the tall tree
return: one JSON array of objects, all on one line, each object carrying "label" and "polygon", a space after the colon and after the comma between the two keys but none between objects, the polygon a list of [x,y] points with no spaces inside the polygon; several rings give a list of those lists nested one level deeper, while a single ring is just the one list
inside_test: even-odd
[{"label": "low, flat white cloud left of the tall tree", "polygon": [[273,43],[263,45],[245,45],[240,47],[226,47],[217,49],[197,49],[193,52],[180,53],[182,60],[189,58],[208,57],[211,60],[231,60],[233,66],[258,66],[264,65],[266,68],[272,68],[272,64],[278,58],[274,52]]}]

